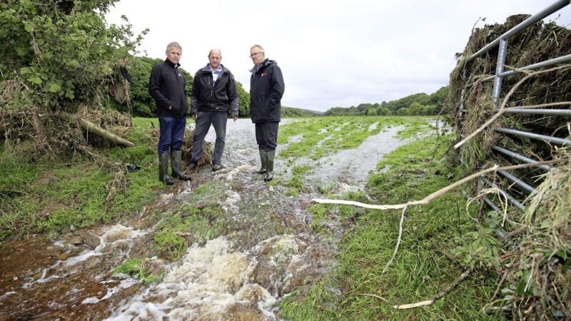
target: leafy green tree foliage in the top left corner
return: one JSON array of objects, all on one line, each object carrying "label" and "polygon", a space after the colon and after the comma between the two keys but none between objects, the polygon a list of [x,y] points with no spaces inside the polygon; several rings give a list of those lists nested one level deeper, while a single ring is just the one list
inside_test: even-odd
[{"label": "leafy green tree foliage in the top left corner", "polygon": [[52,109],[101,101],[148,31],[132,40],[130,24],[107,26],[116,1],[2,1],[1,80],[23,83],[34,103]]}]

